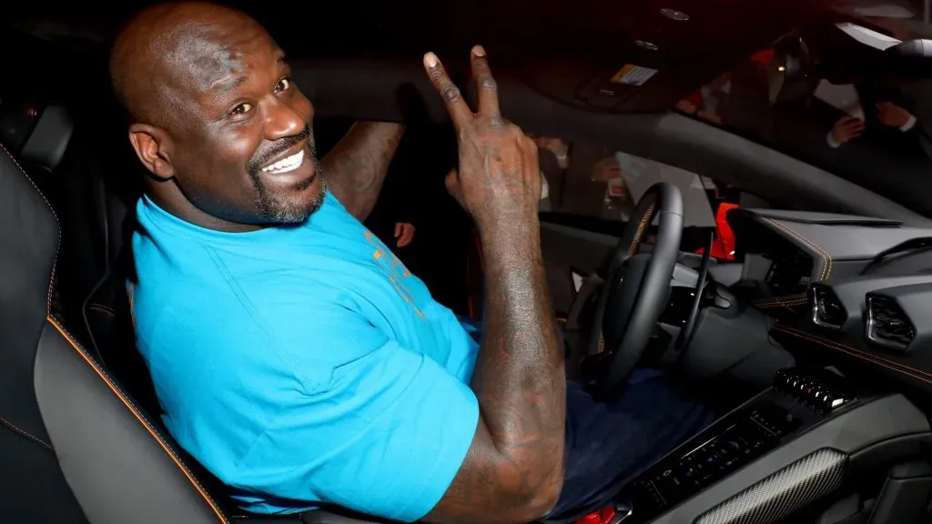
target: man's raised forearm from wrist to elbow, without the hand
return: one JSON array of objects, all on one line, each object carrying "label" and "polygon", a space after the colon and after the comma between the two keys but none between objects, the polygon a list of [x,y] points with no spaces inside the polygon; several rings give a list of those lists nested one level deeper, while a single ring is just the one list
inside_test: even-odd
[{"label": "man's raised forearm from wrist to elbow, without the hand", "polygon": [[483,238],[489,299],[470,384],[480,427],[429,519],[528,522],[562,489],[566,379],[539,235],[533,225]]}]

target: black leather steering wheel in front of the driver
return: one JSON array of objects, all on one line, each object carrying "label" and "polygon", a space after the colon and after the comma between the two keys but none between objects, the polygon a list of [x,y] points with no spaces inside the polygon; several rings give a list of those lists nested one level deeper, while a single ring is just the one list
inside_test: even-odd
[{"label": "black leather steering wheel in front of the driver", "polygon": [[[659,216],[659,224],[653,251],[639,254],[637,248],[655,216]],[[624,227],[598,296],[588,348],[590,355],[600,357],[596,393],[621,393],[647,348],[666,308],[682,234],[679,188],[667,182],[651,186]]]}]

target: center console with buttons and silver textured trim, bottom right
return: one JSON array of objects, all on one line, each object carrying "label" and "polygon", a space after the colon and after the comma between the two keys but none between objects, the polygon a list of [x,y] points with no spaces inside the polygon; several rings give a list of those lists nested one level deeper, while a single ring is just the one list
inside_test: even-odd
[{"label": "center console with buttons and silver textured trim, bottom right", "polygon": [[929,438],[898,393],[789,369],[626,484],[619,524],[773,522],[841,487],[853,468]]}]

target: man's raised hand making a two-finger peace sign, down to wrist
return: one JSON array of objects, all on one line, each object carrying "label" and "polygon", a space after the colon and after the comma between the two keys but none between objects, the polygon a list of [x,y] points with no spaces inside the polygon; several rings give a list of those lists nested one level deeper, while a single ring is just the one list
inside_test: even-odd
[{"label": "man's raised hand making a two-finger peace sign, down to wrist", "polygon": [[537,145],[501,117],[486,50],[476,46],[471,58],[479,91],[475,112],[436,55],[427,53],[424,67],[444,98],[458,136],[459,170],[450,173],[447,189],[473,215],[480,233],[488,234],[536,219],[541,176]]}]

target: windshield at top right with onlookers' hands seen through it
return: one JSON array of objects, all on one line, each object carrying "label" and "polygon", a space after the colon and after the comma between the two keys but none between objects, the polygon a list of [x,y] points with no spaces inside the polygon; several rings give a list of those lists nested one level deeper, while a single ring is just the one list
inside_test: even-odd
[{"label": "windshield at top right with onlookers' hands seen through it", "polygon": [[932,25],[921,1],[842,2],[675,110],[932,214]]}]

